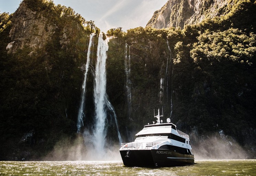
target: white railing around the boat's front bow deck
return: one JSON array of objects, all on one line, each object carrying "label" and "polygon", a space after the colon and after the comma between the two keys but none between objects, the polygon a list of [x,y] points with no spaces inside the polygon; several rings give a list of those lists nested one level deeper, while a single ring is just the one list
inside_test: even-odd
[{"label": "white railing around the boat's front bow deck", "polygon": [[126,150],[148,150],[151,147],[157,145],[159,143],[152,143],[152,142],[148,142],[148,143],[122,143],[122,148],[126,149]]}]

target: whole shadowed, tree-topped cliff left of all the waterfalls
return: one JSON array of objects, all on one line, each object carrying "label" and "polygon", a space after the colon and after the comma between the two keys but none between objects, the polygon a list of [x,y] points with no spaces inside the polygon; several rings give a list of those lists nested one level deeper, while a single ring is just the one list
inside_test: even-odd
[{"label": "whole shadowed, tree-topped cliff left of all the waterfalls", "polygon": [[0,158],[37,160],[76,132],[91,26],[82,26],[73,9],[46,0],[24,0],[2,17]]}]

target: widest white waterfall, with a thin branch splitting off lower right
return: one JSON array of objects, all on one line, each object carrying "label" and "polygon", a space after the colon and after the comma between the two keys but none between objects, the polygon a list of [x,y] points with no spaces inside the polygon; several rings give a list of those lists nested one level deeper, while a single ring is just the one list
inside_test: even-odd
[{"label": "widest white waterfall, with a thin branch splitting off lower right", "polygon": [[[103,40],[103,34],[100,33],[98,48],[97,48],[97,62],[95,67],[95,78],[94,78],[94,104],[95,104],[95,125],[93,130],[93,145],[96,151],[104,151],[105,137],[107,135],[105,121],[107,118],[107,109],[111,110],[114,114],[114,109],[107,99],[106,94],[106,60],[108,51],[108,39]],[[115,115],[114,115],[115,116]],[[117,120],[115,116],[115,122]],[[118,131],[118,137],[121,143],[121,136]]]}]

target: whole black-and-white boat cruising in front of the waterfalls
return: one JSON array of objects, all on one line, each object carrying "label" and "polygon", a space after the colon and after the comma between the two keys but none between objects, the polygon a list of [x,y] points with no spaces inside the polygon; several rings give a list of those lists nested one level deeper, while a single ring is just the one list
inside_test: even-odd
[{"label": "whole black-and-white boat cruising in front of the waterfalls", "polygon": [[[155,111],[155,110],[154,110]],[[163,111],[163,110],[162,110]],[[163,113],[162,113],[163,114]],[[125,166],[169,167],[194,163],[189,135],[177,130],[176,125],[160,121],[145,125],[135,136],[134,142],[122,143],[120,154]]]}]

